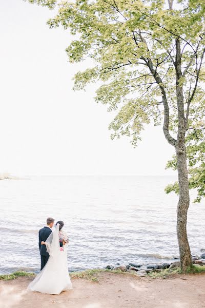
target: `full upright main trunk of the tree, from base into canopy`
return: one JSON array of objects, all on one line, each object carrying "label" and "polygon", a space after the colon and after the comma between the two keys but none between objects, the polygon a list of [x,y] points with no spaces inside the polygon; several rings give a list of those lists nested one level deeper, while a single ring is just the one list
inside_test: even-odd
[{"label": "full upright main trunk of the tree, from base into canopy", "polygon": [[192,257],[187,237],[187,213],[189,208],[189,182],[187,170],[187,155],[185,146],[186,119],[183,103],[183,89],[180,85],[181,48],[180,40],[176,40],[176,97],[178,108],[178,133],[176,141],[177,170],[179,183],[179,201],[177,205],[177,239],[179,244],[180,265],[182,272],[186,272],[188,266],[192,266]]}]

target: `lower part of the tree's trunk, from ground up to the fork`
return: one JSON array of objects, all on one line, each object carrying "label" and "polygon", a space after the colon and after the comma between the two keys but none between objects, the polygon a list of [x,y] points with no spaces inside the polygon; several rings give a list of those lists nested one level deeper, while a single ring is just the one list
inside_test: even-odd
[{"label": "lower part of the tree's trunk, from ground up to the fork", "polygon": [[192,266],[191,251],[187,237],[187,214],[190,204],[185,144],[176,146],[179,201],[177,205],[177,239],[179,245],[180,265],[182,272]]}]

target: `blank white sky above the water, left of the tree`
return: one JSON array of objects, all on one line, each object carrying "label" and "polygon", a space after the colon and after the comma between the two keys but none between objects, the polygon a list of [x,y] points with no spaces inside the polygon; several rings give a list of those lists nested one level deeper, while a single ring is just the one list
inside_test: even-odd
[{"label": "blank white sky above the water, left of the tree", "polygon": [[165,170],[174,148],[152,124],[133,148],[112,141],[114,117],[94,102],[96,86],[73,91],[73,76],[91,60],[70,64],[69,30],[49,29],[47,8],[0,1],[0,173],[27,175],[175,175]]}]

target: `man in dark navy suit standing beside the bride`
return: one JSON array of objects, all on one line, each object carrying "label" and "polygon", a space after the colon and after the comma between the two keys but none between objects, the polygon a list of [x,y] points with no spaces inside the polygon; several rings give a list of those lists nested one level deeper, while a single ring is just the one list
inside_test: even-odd
[{"label": "man in dark navy suit standing beside the bride", "polygon": [[52,230],[51,228],[54,225],[54,219],[49,217],[47,218],[47,226],[43,227],[42,229],[39,230],[38,232],[38,246],[40,249],[40,271],[44,268],[46,265],[48,258],[49,258],[49,253],[46,251],[46,245],[42,245],[42,241],[46,242],[47,238],[51,234]]}]

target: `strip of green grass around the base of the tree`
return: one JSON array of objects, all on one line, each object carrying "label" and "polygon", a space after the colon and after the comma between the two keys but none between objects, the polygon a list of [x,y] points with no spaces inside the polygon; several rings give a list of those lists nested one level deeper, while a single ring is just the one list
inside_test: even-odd
[{"label": "strip of green grass around the base of the tree", "polygon": [[186,273],[183,273],[180,267],[175,267],[171,269],[166,268],[160,272],[151,272],[151,273],[148,273],[148,276],[154,279],[154,278],[167,278],[169,276],[176,275],[176,274],[189,275],[189,274],[200,274],[200,273],[205,273],[205,266],[197,266],[193,264],[192,266],[187,268]]}]

